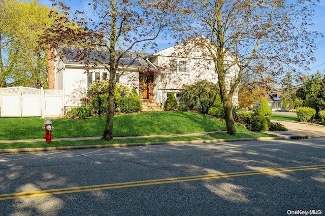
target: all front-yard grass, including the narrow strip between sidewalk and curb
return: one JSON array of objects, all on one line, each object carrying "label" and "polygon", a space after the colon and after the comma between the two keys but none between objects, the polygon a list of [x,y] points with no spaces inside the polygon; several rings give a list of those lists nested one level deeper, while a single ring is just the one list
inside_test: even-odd
[{"label": "all front-yard grass, including the narrow strip between sidewalk and curb", "polygon": [[[51,119],[53,123],[53,137],[87,137],[101,136],[104,130],[106,117],[89,119]],[[43,139],[45,119],[41,118],[0,118],[0,139]],[[163,141],[191,141],[203,139],[229,139],[229,138],[256,138],[274,136],[261,132],[252,132],[242,125],[236,125],[237,134],[226,133],[209,134],[202,136],[182,137],[151,137],[105,140],[81,141],[52,141],[46,142],[20,142],[1,144],[0,149],[13,148],[44,148],[64,146],[110,145],[116,143],[140,143]],[[224,122],[202,114],[182,112],[150,112],[142,114],[116,115],[114,117],[114,137],[185,134],[205,131],[226,130]]]}]

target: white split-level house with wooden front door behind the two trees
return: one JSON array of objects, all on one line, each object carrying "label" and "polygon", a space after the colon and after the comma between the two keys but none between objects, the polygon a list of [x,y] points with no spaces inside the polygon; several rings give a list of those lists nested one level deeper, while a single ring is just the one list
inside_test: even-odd
[{"label": "white split-level house with wooden front door behind the two trees", "polygon": [[[193,84],[199,80],[217,83],[218,77],[214,65],[209,59],[202,57],[203,55],[198,50],[187,56],[176,56],[175,52],[179,46],[176,45],[138,58],[129,65],[118,82],[135,87],[143,102],[161,104],[165,103],[170,93],[175,94],[176,99],[180,102],[184,84]],[[75,54],[70,54],[69,49],[64,51],[54,51],[53,56],[55,57],[49,61],[49,86],[52,86],[53,89],[63,90],[64,107],[65,110],[69,110],[71,107],[81,104],[80,99],[87,96],[87,88],[93,82],[107,79],[109,74],[103,65],[97,65],[89,69],[89,73],[85,73],[85,61],[88,61],[89,65],[94,64],[91,58],[76,60]],[[96,52],[100,51],[92,51],[90,56],[95,58],[96,55],[99,55]],[[101,58],[104,58],[105,55],[105,52],[100,52]],[[123,65],[127,65],[132,60],[133,57],[129,54],[125,54],[121,59]],[[105,61],[107,60],[104,59],[103,62]],[[228,56],[226,61],[231,62],[232,58]],[[143,68],[151,67],[155,71],[155,67],[164,65],[166,65],[166,69],[163,71],[141,72]],[[229,83],[235,73],[236,67],[231,67],[227,77]],[[234,95],[233,103],[234,105],[238,104],[237,93]]]}]

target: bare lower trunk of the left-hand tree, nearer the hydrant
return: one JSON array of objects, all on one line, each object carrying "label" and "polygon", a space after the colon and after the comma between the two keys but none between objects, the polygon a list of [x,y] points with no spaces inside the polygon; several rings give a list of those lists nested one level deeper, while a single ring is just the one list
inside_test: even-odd
[{"label": "bare lower trunk of the left-hand tree, nearer the hydrant", "polygon": [[115,111],[115,96],[114,96],[114,81],[110,82],[109,94],[107,97],[107,118],[106,125],[102,139],[111,140],[113,139],[113,119],[114,119],[114,111]]}]

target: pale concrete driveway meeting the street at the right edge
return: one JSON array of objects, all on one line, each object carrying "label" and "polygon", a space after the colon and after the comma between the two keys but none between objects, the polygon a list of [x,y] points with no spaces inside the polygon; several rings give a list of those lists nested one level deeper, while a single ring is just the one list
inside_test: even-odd
[{"label": "pale concrete driveway meeting the street at the right edge", "polygon": [[298,122],[285,122],[285,121],[273,121],[279,122],[284,125],[288,131],[270,131],[268,133],[276,134],[279,136],[309,136],[320,137],[325,136],[325,127],[322,125],[312,125]]}]

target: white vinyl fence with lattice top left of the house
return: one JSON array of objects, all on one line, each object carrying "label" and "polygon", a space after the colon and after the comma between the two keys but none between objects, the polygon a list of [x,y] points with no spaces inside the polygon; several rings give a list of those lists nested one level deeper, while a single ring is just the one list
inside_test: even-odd
[{"label": "white vinyl fence with lattice top left of the house", "polygon": [[0,88],[0,117],[63,116],[63,109],[62,90]]}]

